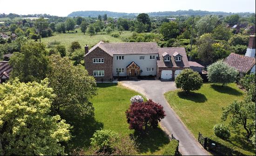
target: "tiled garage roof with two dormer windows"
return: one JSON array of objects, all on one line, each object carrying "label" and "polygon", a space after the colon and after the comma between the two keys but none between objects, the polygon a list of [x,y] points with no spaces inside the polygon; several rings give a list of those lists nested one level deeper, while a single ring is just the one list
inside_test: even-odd
[{"label": "tiled garage roof with two dormer windows", "polygon": [[[189,68],[189,61],[185,48],[183,47],[171,47],[171,48],[158,48],[159,56],[157,57],[157,67],[184,67]],[[175,58],[171,57],[170,61],[164,61],[162,54],[166,52],[172,56],[175,52],[178,52],[182,56],[182,61],[176,61]]]}]

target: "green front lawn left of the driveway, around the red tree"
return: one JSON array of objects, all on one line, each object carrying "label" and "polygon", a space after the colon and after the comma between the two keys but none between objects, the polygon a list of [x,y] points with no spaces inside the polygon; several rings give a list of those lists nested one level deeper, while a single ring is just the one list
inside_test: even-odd
[{"label": "green front lawn left of the driveway, around the red tree", "polygon": [[76,147],[87,148],[89,138],[95,130],[114,130],[121,135],[137,136],[139,143],[138,155],[160,155],[162,148],[169,143],[169,139],[161,128],[149,130],[148,134],[139,136],[134,130],[129,130],[125,110],[130,105],[130,98],[139,93],[116,84],[97,84],[98,95],[91,102],[95,108],[95,118],[85,119],[74,126],[72,131],[75,137],[68,145],[68,150]]}]

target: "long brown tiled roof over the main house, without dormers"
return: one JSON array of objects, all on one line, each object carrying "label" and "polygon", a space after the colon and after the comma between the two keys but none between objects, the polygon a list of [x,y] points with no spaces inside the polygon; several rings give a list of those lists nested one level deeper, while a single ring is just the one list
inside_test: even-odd
[{"label": "long brown tiled roof over the main house, without dormers", "polygon": [[[158,46],[156,42],[103,43],[102,41],[97,45],[94,45],[94,47],[92,47],[88,53],[92,52],[97,47],[101,48],[111,56],[158,53]],[[86,55],[88,55],[88,53]]]}]

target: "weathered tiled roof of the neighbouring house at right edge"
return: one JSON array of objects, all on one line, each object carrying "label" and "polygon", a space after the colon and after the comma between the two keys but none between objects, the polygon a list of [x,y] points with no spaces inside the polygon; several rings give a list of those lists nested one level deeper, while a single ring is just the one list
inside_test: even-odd
[{"label": "weathered tiled roof of the neighbouring house at right edge", "polygon": [[229,66],[235,67],[237,71],[248,72],[255,65],[255,58],[231,53],[224,62]]}]

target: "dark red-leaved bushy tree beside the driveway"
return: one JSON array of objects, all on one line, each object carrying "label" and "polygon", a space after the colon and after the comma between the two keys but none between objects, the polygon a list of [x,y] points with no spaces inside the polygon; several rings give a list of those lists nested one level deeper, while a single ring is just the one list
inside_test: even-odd
[{"label": "dark red-leaved bushy tree beside the driveway", "polygon": [[131,104],[125,113],[129,128],[134,130],[147,130],[148,126],[156,128],[158,122],[166,116],[162,105],[156,104],[151,99]]}]

